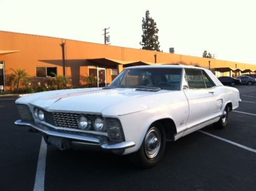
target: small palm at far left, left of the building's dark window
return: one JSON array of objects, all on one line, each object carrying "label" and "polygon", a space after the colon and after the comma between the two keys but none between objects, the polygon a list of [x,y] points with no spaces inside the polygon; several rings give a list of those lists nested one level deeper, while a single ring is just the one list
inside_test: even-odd
[{"label": "small palm at far left, left of the building's dark window", "polygon": [[13,73],[7,76],[7,86],[18,92],[20,86],[26,86],[29,83],[29,75],[25,70],[11,70]]}]

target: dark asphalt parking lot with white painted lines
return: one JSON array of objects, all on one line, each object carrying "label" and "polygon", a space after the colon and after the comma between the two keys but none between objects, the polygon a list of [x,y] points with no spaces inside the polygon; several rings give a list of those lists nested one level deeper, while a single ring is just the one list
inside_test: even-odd
[{"label": "dark asphalt parking lot with white painted lines", "polygon": [[59,151],[14,125],[14,97],[0,98],[0,190],[256,190],[256,85],[237,86],[242,103],[228,126],[212,125],[174,143],[155,167],[127,156]]}]

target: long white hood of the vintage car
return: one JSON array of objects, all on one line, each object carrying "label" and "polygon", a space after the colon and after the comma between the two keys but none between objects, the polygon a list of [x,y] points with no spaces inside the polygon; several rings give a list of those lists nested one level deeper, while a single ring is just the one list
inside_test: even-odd
[{"label": "long white hood of the vintage car", "polygon": [[[113,107],[121,102],[134,104],[133,109],[121,108],[124,114],[138,110],[148,109],[148,104],[143,103],[140,99],[140,105],[134,102],[134,99],[151,96],[166,92],[164,90],[158,92],[138,91],[131,88],[91,88],[91,89],[73,89],[42,92],[24,96],[16,100],[16,103],[32,104],[49,112],[81,112],[99,114],[109,107]],[[133,101],[132,101],[133,100]],[[145,102],[145,101],[144,101]],[[120,110],[120,111],[121,111]],[[129,111],[127,111],[129,110]]]}]

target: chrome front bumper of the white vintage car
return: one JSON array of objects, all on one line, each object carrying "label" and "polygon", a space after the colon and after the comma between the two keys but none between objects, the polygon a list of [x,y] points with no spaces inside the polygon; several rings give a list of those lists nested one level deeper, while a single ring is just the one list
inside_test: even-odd
[{"label": "chrome front bumper of the white vintage car", "polygon": [[64,139],[70,139],[75,142],[82,142],[84,144],[95,144],[101,146],[104,150],[123,150],[124,148],[129,148],[135,146],[133,141],[125,142],[109,142],[107,137],[101,135],[93,135],[89,133],[74,132],[68,130],[56,130],[50,128],[41,123],[34,122],[23,122],[22,120],[15,121],[16,125],[30,126],[34,130],[47,136],[60,137]]}]

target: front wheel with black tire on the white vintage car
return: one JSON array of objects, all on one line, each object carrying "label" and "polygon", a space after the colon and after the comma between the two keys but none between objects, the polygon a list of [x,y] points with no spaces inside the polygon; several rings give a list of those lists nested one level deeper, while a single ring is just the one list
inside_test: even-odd
[{"label": "front wheel with black tire on the white vintage car", "polygon": [[133,164],[141,168],[156,165],[165,151],[166,133],[162,124],[154,123],[150,126],[140,149],[130,155]]}]

